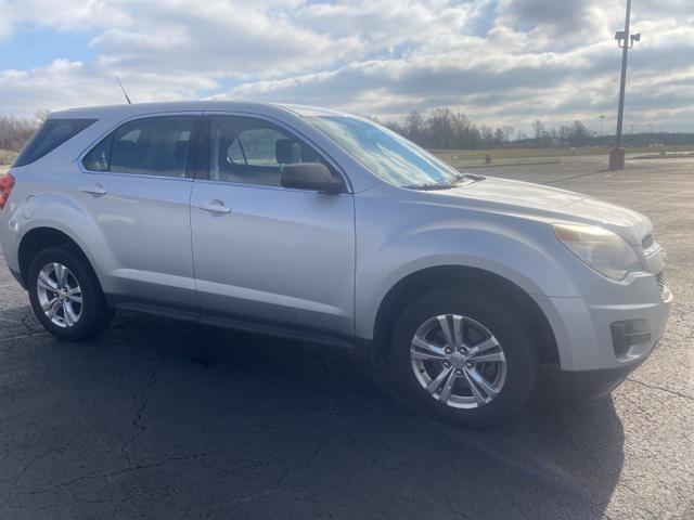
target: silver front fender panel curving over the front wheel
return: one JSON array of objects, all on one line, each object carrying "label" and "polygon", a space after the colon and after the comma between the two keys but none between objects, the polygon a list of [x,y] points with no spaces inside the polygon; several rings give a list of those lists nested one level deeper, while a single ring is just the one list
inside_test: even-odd
[{"label": "silver front fender panel curving over the front wheel", "polygon": [[602,281],[556,240],[544,222],[465,210],[457,210],[454,218],[415,222],[417,211],[409,209],[396,213],[400,218],[395,224],[376,220],[362,224],[358,233],[355,304],[360,338],[373,337],[388,291],[425,269],[476,268],[541,297],[581,297]]}]

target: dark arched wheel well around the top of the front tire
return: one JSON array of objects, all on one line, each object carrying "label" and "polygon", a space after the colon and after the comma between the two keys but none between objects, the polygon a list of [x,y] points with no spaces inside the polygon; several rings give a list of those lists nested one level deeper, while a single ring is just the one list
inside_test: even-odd
[{"label": "dark arched wheel well around the top of the front tire", "polygon": [[385,359],[390,348],[393,327],[400,313],[417,296],[436,288],[464,284],[501,292],[516,303],[529,327],[540,361],[558,364],[558,348],[549,320],[532,297],[510,280],[479,268],[439,265],[421,269],[399,280],[385,295],[376,312],[373,329],[373,347],[376,359]]}]

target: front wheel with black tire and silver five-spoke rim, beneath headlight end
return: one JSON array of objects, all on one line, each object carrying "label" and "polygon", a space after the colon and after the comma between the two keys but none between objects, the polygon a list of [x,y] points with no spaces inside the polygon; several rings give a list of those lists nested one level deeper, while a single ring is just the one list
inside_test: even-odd
[{"label": "front wheel with black tire and silver five-spoke rim, beneath headlight end", "polygon": [[[538,353],[528,325],[517,317],[511,301],[501,291],[452,287],[434,290],[410,303],[393,330],[388,363],[396,370],[407,402],[471,428],[488,428],[512,418],[535,386]],[[464,340],[449,342],[438,316],[445,316],[442,323],[453,339],[455,324],[462,324],[458,337]],[[424,342],[417,340],[413,347],[415,333]],[[452,354],[449,349],[447,354],[447,344],[459,348]],[[429,350],[432,346],[436,352]],[[426,354],[435,359],[419,359],[428,358]],[[437,384],[441,373],[449,375]],[[480,376],[484,381],[477,382]],[[447,391],[449,379],[452,382]],[[434,390],[427,391],[427,384]]]}]

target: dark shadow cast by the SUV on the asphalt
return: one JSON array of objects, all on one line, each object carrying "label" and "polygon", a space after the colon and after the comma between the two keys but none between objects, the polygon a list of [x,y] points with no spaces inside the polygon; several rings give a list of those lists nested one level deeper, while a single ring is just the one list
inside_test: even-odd
[{"label": "dark shadow cast by the SUV on the asphalt", "polygon": [[624,463],[609,398],[540,388],[510,425],[464,430],[316,344],[119,313],[82,343],[3,351],[23,382],[0,404],[0,482],[20,474],[0,515],[600,518]]}]

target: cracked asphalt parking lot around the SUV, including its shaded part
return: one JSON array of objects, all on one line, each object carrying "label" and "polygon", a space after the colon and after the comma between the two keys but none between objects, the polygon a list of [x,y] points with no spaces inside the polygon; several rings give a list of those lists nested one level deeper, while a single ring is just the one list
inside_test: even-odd
[{"label": "cracked asphalt parking lot around the SUV, including its shaded part", "polygon": [[605,164],[474,171],[648,214],[667,335],[612,396],[543,388],[493,431],[414,414],[319,346],[125,312],[60,342],[0,262],[0,518],[694,518],[694,160]]}]

